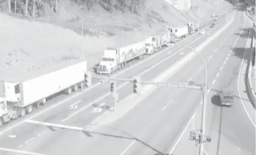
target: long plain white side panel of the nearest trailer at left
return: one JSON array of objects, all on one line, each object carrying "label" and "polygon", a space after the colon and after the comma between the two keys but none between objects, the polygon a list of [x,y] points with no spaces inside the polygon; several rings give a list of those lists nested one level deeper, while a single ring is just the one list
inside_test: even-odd
[{"label": "long plain white side panel of the nearest trailer at left", "polygon": [[21,101],[18,106],[25,107],[35,103],[36,101],[61,92],[74,84],[78,84],[84,80],[86,70],[87,63],[84,61],[76,65],[65,67],[64,69],[24,81],[22,83],[21,90],[21,94],[23,94],[21,98],[23,101]]}]

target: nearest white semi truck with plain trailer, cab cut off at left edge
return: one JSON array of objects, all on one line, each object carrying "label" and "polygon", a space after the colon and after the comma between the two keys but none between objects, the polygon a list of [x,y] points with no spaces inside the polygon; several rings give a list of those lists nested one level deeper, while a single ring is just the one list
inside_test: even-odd
[{"label": "nearest white semi truck with plain trailer, cab cut off at left edge", "polygon": [[28,80],[0,81],[0,126],[30,114],[54,94],[83,89],[86,71],[87,62],[83,61]]}]

